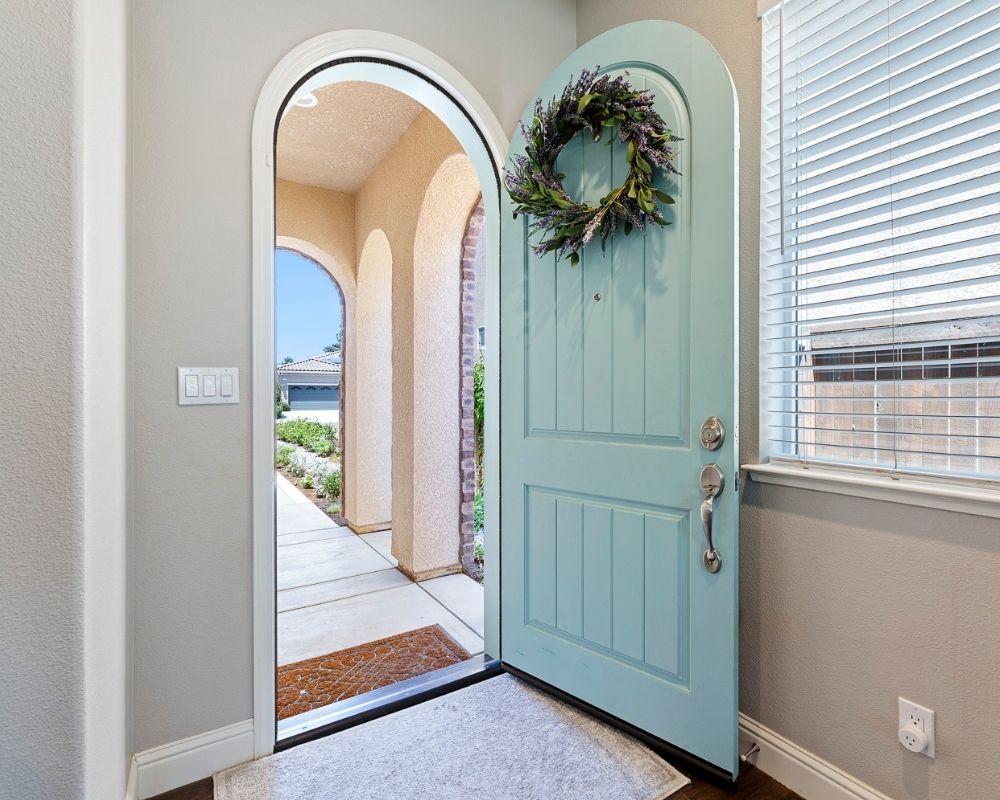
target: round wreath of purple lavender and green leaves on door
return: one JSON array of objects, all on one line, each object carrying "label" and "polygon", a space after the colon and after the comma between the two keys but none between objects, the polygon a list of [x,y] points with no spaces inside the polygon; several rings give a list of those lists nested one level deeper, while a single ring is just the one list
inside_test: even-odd
[{"label": "round wreath of purple lavender and green leaves on door", "polygon": [[[619,225],[628,235],[636,229],[645,230],[649,224],[669,224],[657,201],[674,202],[669,194],[653,188],[653,170],[677,173],[670,145],[680,137],[674,136],[653,109],[652,93],[632,88],[628,73],[598,77],[599,70],[584,70],[547,107],[541,98],[535,100],[531,126],[521,123],[524,155],[513,157],[504,177],[514,201],[515,219],[518,214],[530,215],[529,233],[542,233],[541,240],[532,245],[535,254],[554,250],[557,258],[568,255],[573,266],[595,235],[600,234],[603,249]],[[624,183],[596,206],[571,198],[562,185],[566,176],[556,172],[559,153],[585,128],[590,129],[595,142],[609,128],[608,145],[617,134],[618,141],[626,145],[629,166]]]}]

